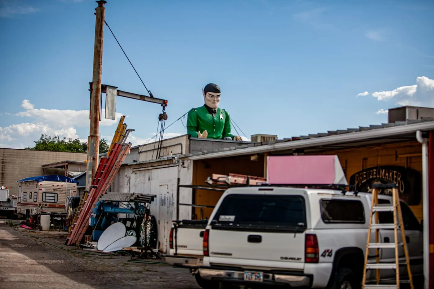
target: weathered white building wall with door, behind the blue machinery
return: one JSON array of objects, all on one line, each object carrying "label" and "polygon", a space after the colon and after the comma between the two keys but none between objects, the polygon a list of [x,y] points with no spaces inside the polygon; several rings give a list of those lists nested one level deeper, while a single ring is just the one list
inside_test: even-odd
[{"label": "weathered white building wall with door, behind the blue machinery", "polygon": [[[176,219],[176,187],[178,171],[181,184],[191,184],[193,174],[189,160],[181,165],[171,161],[159,167],[155,163],[122,166],[112,184],[112,191],[125,193],[154,194],[157,197],[150,205],[151,214],[158,222],[158,249],[168,251],[168,239],[172,220]],[[182,204],[191,204],[191,189],[180,188]],[[180,206],[180,219],[191,219],[191,207]]]}]

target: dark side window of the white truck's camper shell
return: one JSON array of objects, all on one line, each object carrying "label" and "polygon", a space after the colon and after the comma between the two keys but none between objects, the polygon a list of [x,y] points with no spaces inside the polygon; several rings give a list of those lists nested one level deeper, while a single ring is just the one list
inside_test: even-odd
[{"label": "dark side window of the white truck's camper shell", "polygon": [[365,209],[359,200],[321,200],[324,223],[365,223]]}]

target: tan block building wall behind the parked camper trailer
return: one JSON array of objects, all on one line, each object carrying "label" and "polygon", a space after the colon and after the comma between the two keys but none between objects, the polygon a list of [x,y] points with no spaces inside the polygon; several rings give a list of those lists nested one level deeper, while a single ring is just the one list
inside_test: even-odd
[{"label": "tan block building wall behind the parked camper trailer", "polygon": [[[59,151],[31,151],[14,148],[0,148],[0,185],[7,186],[10,194],[18,195],[16,181],[25,177],[40,176],[42,165],[56,161],[84,161],[83,153]],[[61,169],[47,169],[44,174],[64,174]]]}]

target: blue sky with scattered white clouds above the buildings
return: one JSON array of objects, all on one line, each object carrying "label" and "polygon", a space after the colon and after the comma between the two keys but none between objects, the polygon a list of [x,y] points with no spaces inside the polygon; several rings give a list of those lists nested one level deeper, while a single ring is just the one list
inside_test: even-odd
[{"label": "blue sky with scattered white clouds above the buildings", "polygon": [[[0,0],[0,147],[23,148],[41,133],[87,138],[95,7]],[[105,7],[148,89],[168,99],[166,125],[203,105],[209,82],[220,85],[220,108],[249,138],[379,124],[387,122],[381,109],[405,104],[434,107],[432,1],[108,0]],[[102,82],[146,93],[107,27]],[[137,145],[155,134],[161,107],[118,97],[117,112],[127,115]],[[111,138],[116,123],[104,120],[101,135]],[[177,122],[165,135],[184,133]]]}]

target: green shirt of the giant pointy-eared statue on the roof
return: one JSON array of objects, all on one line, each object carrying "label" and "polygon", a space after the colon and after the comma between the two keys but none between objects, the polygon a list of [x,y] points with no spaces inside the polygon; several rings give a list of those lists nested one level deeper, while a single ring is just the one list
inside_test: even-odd
[{"label": "green shirt of the giant pointy-eared statue on the roof", "polygon": [[230,116],[224,109],[217,108],[215,116],[208,112],[205,105],[192,108],[188,112],[187,117],[187,134],[193,138],[197,138],[197,131],[201,133],[203,131],[208,132],[207,138],[222,139],[224,137],[230,137],[233,139],[233,135],[230,134]]}]

